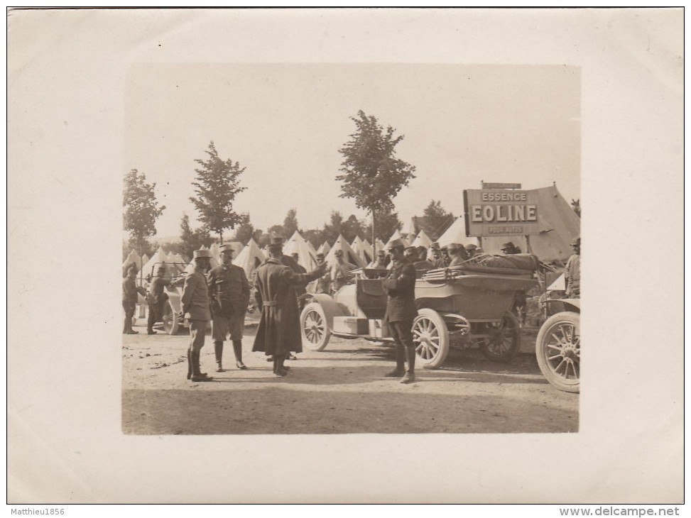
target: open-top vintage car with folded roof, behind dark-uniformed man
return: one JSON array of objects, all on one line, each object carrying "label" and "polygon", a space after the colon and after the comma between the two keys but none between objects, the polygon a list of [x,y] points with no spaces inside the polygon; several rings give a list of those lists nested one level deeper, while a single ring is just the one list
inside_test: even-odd
[{"label": "open-top vintage car with folded roof, behind dark-uniformed man", "polygon": [[[383,316],[387,270],[364,269],[333,296],[305,294],[300,314],[303,346],[322,351],[331,336],[391,342]],[[532,272],[457,267],[430,270],[415,280],[418,316],[413,341],[423,368],[439,368],[450,347],[479,347],[486,358],[508,361],[521,346],[518,319],[510,310],[519,290],[537,285]]]}]

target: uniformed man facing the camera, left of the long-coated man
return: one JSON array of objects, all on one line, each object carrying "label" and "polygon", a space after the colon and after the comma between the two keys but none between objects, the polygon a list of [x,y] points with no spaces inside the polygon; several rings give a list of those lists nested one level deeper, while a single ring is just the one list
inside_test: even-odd
[{"label": "uniformed man facing the camera, left of the long-coated man", "polygon": [[211,297],[216,372],[222,373],[223,342],[228,335],[233,342],[236,367],[240,370],[247,369],[242,363],[242,333],[249,304],[249,282],[245,270],[232,263],[233,248],[230,245],[221,245],[219,251],[221,264],[209,272],[207,282]]}]

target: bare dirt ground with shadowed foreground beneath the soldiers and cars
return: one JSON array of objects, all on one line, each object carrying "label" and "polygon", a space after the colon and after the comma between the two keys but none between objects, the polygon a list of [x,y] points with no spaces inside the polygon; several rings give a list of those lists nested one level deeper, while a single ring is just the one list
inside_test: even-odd
[{"label": "bare dirt ground with shadowed foreground beneath the soldiers and cars", "polygon": [[[393,348],[366,340],[331,339],[324,351],[286,361],[276,378],[271,363],[252,353],[256,322],[248,321],[244,362],[235,368],[232,344],[224,346],[224,373],[215,373],[207,335],[202,371],[187,374],[188,336],[160,331],[123,336],[122,429],[126,434],[415,434],[578,431],[577,394],[560,392],[535,360],[536,329],[523,331],[521,353],[511,363],[485,360],[477,350],[452,349],[439,370],[418,369],[403,385],[383,378],[393,368]],[[406,416],[406,419],[401,419]]]}]

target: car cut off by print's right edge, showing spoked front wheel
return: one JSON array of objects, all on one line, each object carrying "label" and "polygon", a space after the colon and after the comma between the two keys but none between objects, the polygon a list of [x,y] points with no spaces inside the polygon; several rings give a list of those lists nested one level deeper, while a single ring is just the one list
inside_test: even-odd
[{"label": "car cut off by print's right edge, showing spoked front wheel", "polygon": [[540,303],[548,316],[535,343],[540,370],[557,389],[579,392],[581,301],[545,298]]}]

